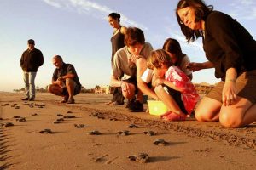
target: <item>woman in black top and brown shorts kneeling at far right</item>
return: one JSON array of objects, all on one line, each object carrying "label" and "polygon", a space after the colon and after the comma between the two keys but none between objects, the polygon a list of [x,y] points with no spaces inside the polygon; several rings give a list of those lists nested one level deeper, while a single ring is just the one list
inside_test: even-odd
[{"label": "woman in black top and brown shorts kneeling at far right", "polygon": [[224,127],[243,127],[256,121],[256,42],[228,14],[214,11],[202,0],[180,0],[177,23],[188,42],[202,37],[208,61],[190,63],[192,71],[215,68],[221,78],[201,100],[195,118],[219,121]]}]

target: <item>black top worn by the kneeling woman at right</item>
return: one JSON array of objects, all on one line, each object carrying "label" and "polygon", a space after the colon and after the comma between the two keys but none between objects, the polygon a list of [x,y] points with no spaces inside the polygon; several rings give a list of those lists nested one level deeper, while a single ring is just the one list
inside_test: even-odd
[{"label": "black top worn by the kneeling woman at right", "polygon": [[229,68],[237,74],[256,69],[256,41],[229,15],[213,11],[205,20],[203,48],[215,67],[215,77],[224,80]]}]

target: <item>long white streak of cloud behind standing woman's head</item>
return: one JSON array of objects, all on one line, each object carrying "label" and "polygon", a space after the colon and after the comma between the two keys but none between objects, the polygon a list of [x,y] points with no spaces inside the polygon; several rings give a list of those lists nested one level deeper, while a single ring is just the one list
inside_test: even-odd
[{"label": "long white streak of cloud behind standing woman's head", "polygon": [[[54,8],[61,8],[66,10],[75,11],[79,14],[88,14],[97,19],[106,20],[108,14],[115,11],[112,8],[101,5],[99,3],[94,3],[88,0],[43,0],[44,3],[47,3],[49,6]],[[121,21],[125,26],[137,26],[144,31],[148,30],[147,26],[138,24],[136,21],[129,19],[125,14],[121,14]]]}]

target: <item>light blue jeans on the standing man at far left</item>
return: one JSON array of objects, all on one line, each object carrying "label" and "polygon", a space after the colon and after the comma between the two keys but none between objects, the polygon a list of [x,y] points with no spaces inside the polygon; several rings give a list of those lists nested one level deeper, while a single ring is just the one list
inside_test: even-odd
[{"label": "light blue jeans on the standing man at far left", "polygon": [[27,98],[35,99],[36,88],[35,88],[35,78],[37,72],[23,72],[23,80],[25,82],[25,95]]}]

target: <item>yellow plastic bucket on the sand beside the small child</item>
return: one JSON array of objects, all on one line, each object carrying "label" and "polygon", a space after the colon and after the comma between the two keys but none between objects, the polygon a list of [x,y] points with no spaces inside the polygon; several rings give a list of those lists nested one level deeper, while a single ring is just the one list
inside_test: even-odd
[{"label": "yellow plastic bucket on the sand beside the small child", "polygon": [[166,113],[167,107],[162,101],[148,100],[148,110],[150,115],[160,116]]}]

